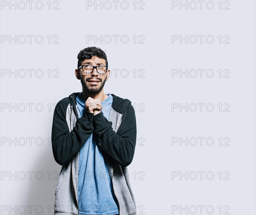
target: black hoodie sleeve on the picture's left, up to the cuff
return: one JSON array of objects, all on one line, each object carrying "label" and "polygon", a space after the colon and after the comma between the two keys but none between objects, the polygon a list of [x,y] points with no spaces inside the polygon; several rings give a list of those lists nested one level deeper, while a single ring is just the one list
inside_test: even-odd
[{"label": "black hoodie sleeve on the picture's left, up to the cuff", "polygon": [[87,110],[77,119],[76,126],[70,132],[66,120],[67,106],[61,101],[57,103],[52,122],[52,151],[60,165],[75,157],[93,132],[93,113]]}]

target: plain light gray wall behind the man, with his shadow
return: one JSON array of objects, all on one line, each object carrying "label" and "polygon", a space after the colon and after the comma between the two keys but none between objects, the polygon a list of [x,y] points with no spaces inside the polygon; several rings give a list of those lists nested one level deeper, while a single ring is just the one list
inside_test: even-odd
[{"label": "plain light gray wall behind the man, with his shadow", "polygon": [[[255,1],[213,1],[212,10],[207,9],[205,3],[200,9],[198,1],[195,1],[198,7],[194,10],[191,9],[194,7],[192,3],[189,7],[189,1],[182,1],[188,4],[188,9],[184,6],[172,9],[172,4],[175,4],[172,1],[128,1],[126,10],[120,7],[120,3],[115,10],[113,1],[110,1],[112,8],[109,10],[104,6],[102,9],[86,8],[86,1],[66,0],[57,1],[58,6],[50,2],[58,10],[49,10],[49,1],[43,1],[41,10],[32,3],[30,10],[25,1],[26,9],[22,10],[19,6],[23,5],[12,1],[15,2],[17,9],[6,6],[0,11],[1,35],[8,38],[9,35],[34,37],[31,44],[29,41],[21,44],[21,40],[16,44],[15,40],[9,39],[0,44],[1,105],[6,103],[8,106],[1,110],[1,140],[34,139],[31,146],[29,139],[25,146],[20,146],[18,140],[17,146],[15,142],[9,146],[9,140],[1,142],[1,214],[22,214],[24,208],[27,210],[25,214],[39,214],[41,206],[44,209],[42,214],[53,213],[58,182],[53,176],[56,176],[54,171],[61,169],[47,141],[51,136],[54,103],[73,92],[81,92],[81,83],[74,70],[77,54],[87,46],[105,50],[109,68],[119,69],[117,77],[112,74],[106,82],[104,92],[128,98],[136,107],[137,146],[128,168],[138,214],[186,214],[186,210],[181,210],[186,206],[191,214],[193,205],[198,209],[196,214],[200,214],[198,205],[203,207],[202,214],[211,212],[205,210],[207,206],[214,208],[212,214],[225,214],[226,209],[232,215],[256,214]],[[224,10],[227,4],[229,10]],[[138,10],[138,6],[144,10]],[[36,35],[42,35],[44,42],[36,43]],[[49,44],[48,35],[58,35],[58,44],[53,44],[52,40]],[[119,35],[118,38],[127,35],[129,42],[124,44],[120,39],[116,44],[114,41],[107,44],[104,40],[102,43],[99,40],[88,42],[86,35],[98,38],[100,35]],[[132,38],[134,35],[137,35],[136,44]],[[144,36],[143,44],[138,43],[139,35]],[[180,44],[179,41],[172,43],[172,35],[205,36],[202,44],[186,44],[184,41]],[[214,37],[214,43],[206,42],[207,35]],[[219,44],[219,35],[229,35],[230,43],[222,41]],[[31,78],[29,73],[26,77],[15,78],[15,75],[4,75],[6,70],[3,69],[12,72],[15,69],[34,69],[34,72]],[[35,77],[36,69],[44,71],[43,77]],[[49,78],[48,69],[58,69],[58,78]],[[121,69],[129,71],[128,77],[121,76]],[[138,78],[138,72],[134,77],[131,72],[134,69],[143,69],[144,78]],[[206,77],[205,73],[202,78],[199,75],[195,78],[172,77],[172,69],[212,69],[215,75],[212,78]],[[219,78],[219,69],[229,69],[230,77]],[[9,110],[9,106],[15,103],[17,106],[21,103],[34,105],[31,112],[28,105],[24,112]],[[42,112],[35,110],[37,103],[43,104]],[[208,112],[204,105],[202,112],[172,111],[173,103],[212,103],[215,109]],[[219,103],[229,103],[230,112],[223,112],[223,109],[219,112]],[[44,140],[42,146],[35,144],[38,137]],[[213,146],[207,146],[205,141],[202,146],[199,142],[196,146],[184,143],[182,146],[173,143],[172,146],[173,137],[212,137],[215,142]],[[220,137],[222,140],[230,138],[230,146],[219,146],[217,139]],[[145,139],[145,146],[138,146],[142,140],[139,138]],[[9,178],[10,174],[15,175],[15,171],[17,180],[15,176]],[[32,171],[32,180],[29,180],[28,171]],[[39,171],[44,174],[41,180],[35,178]],[[172,180],[175,171],[183,174],[186,171],[212,171],[214,178],[208,180],[204,173],[200,180],[198,173],[195,180],[191,179],[192,175],[188,180],[185,177]],[[230,180],[223,180],[225,171],[230,174]],[[8,175],[3,177],[6,172]],[[23,172],[26,172],[26,178],[21,180]],[[37,177],[41,177],[40,172]],[[175,205],[178,210],[172,211]],[[5,206],[7,209],[3,210]],[[218,207],[221,207],[221,212]]]}]

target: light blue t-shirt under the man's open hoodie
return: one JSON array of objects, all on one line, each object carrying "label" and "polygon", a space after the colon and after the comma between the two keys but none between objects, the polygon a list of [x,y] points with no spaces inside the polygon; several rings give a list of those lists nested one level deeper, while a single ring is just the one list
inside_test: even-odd
[{"label": "light blue t-shirt under the man's open hoodie", "polygon": [[[108,119],[113,97],[110,93],[107,95],[108,98],[102,102],[101,112]],[[85,109],[82,93],[77,96],[76,102],[77,112],[81,118]],[[108,166],[102,155],[102,149],[98,148],[95,143],[93,134],[79,152],[78,181],[79,214],[114,215],[119,213]]]}]

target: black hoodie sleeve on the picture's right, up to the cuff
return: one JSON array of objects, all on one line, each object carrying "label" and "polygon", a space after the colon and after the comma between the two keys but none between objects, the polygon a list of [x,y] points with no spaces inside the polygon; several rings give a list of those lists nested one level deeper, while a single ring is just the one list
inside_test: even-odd
[{"label": "black hoodie sleeve on the picture's right, up to the cuff", "polygon": [[111,127],[112,122],[100,112],[93,117],[93,133],[96,135],[96,143],[100,148],[121,166],[128,166],[134,157],[137,135],[136,117],[131,104],[124,112],[122,121],[116,133]]}]

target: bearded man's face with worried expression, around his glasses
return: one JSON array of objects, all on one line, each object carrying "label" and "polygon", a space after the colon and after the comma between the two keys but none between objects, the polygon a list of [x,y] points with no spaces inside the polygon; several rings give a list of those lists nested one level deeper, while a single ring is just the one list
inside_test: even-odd
[{"label": "bearded man's face with worried expression, around his glasses", "polygon": [[[91,59],[85,59],[81,65],[92,65],[92,66],[106,66],[106,61],[102,58],[93,56]],[[81,79],[82,87],[90,93],[98,93],[100,92],[105,82],[108,80],[110,75],[110,70],[108,69],[107,73],[104,75],[99,74],[96,69],[93,69],[92,73],[86,74],[83,72],[82,68],[76,69],[76,77]]]}]

